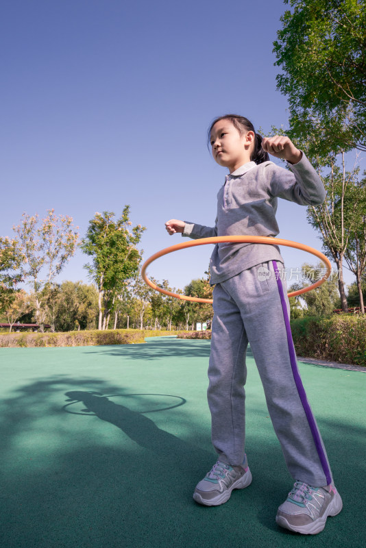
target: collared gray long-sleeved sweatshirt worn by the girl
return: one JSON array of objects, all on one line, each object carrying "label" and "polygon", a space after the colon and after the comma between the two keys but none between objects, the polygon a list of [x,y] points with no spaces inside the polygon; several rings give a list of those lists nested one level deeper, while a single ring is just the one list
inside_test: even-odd
[{"label": "collared gray long-sleeved sweatshirt worn by the girl", "polygon": [[[182,236],[272,236],[280,232],[276,221],[277,199],[315,206],[326,198],[324,185],[302,153],[288,171],[273,162],[248,162],[230,175],[217,195],[215,227],[185,221]],[[276,245],[219,243],[210,259],[211,285],[224,282],[243,270],[269,260],[284,262]]]}]

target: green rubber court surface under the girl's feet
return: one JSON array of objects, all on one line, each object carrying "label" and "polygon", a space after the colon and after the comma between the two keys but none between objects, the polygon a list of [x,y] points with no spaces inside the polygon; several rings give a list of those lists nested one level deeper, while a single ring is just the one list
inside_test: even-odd
[{"label": "green rubber court surface under the girl's feet", "polygon": [[343,511],[317,536],[274,518],[293,482],[247,359],[253,483],[215,508],[192,494],[216,460],[210,343],[0,349],[4,548],[365,546],[366,374],[300,363]]}]

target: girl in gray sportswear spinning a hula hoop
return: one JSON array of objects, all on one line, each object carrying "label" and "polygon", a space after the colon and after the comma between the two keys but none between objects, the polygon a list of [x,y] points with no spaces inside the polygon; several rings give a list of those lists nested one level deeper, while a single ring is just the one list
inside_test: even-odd
[{"label": "girl in gray sportswear spinning a hula hoop", "polygon": [[[209,129],[215,161],[229,170],[217,195],[215,227],[171,219],[169,234],[189,238],[234,234],[277,236],[278,197],[303,206],[322,203],[324,186],[308,159],[288,137],[261,138],[236,114],[217,118]],[[291,171],[269,162],[284,158]],[[295,480],[276,521],[303,534],[324,529],[341,512],[326,450],[297,369],[289,324],[283,259],[275,245],[220,243],[210,259],[214,319],[208,368],[212,444],[218,460],[193,498],[217,506],[252,474],[245,455],[245,353],[252,349],[271,421]]]}]

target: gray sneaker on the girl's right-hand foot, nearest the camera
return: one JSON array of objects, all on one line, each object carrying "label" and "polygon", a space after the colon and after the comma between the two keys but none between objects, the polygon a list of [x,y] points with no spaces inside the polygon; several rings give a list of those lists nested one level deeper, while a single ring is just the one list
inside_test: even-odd
[{"label": "gray sneaker on the girl's right-hand foot, nearest the camera", "polygon": [[306,535],[324,530],[328,516],[337,516],[342,510],[342,499],[334,486],[310,487],[295,482],[286,501],[278,508],[278,525]]}]

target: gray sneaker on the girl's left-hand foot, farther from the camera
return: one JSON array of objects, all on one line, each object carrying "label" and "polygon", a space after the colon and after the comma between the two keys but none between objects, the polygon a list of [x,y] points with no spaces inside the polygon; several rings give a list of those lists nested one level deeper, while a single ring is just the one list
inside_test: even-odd
[{"label": "gray sneaker on the girl's left-hand foot, farther from the camera", "polygon": [[205,506],[219,506],[230,499],[233,489],[243,489],[252,483],[248,466],[230,466],[217,461],[193,494],[193,499]]}]

